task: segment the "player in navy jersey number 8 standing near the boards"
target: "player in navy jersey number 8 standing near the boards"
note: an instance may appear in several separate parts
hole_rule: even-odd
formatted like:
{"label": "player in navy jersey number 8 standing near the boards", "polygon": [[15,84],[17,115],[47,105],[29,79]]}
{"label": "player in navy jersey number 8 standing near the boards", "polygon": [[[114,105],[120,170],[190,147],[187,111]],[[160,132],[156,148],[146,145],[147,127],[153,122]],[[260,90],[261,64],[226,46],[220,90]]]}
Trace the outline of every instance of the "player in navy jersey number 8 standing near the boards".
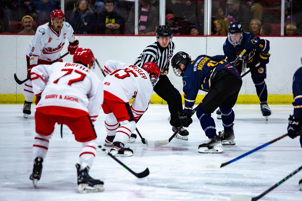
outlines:
{"label": "player in navy jersey number 8 standing near the boards", "polygon": [[260,65],[251,71],[251,75],[260,100],[262,115],[267,120],[268,116],[272,114],[271,109],[267,105],[268,93],[264,80],[266,78],[266,64],[268,64],[270,57],[268,53],[269,41],[260,39],[252,33],[243,32],[239,22],[232,22],[229,27],[228,38],[223,44],[223,52],[227,56],[227,61],[231,63],[235,61],[243,49],[246,49],[246,53],[235,67],[241,74],[246,68],[255,67],[260,62]]}

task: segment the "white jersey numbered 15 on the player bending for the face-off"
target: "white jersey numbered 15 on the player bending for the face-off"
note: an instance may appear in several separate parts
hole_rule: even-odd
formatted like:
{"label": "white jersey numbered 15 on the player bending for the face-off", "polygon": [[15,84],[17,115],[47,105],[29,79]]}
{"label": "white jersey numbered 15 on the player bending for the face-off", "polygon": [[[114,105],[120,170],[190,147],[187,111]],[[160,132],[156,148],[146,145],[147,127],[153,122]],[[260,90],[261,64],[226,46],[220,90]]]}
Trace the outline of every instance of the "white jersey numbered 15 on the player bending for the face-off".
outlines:
{"label": "white jersey numbered 15 on the player bending for the face-off", "polygon": [[133,115],[135,118],[142,115],[148,108],[153,92],[149,74],[136,65],[113,60],[106,61],[104,68],[107,75],[103,80],[104,91],[124,102],[135,98],[131,105]]}

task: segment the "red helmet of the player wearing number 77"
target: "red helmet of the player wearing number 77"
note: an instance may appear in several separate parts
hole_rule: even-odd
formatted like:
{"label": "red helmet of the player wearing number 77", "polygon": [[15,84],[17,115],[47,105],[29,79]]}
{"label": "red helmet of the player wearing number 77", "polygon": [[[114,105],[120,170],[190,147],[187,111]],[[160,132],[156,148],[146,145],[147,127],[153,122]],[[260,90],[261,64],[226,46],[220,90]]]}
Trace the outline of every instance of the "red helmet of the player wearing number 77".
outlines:
{"label": "red helmet of the player wearing number 77", "polygon": [[91,70],[95,69],[95,57],[88,48],[78,48],[73,55],[73,63],[83,64]]}

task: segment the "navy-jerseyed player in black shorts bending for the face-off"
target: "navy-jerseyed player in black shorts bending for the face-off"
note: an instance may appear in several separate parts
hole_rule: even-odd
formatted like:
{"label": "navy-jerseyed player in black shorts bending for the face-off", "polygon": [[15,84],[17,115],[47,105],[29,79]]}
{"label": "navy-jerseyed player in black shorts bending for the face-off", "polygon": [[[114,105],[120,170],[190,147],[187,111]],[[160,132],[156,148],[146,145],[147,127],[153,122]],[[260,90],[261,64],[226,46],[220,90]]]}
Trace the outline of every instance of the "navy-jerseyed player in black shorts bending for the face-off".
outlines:
{"label": "navy-jerseyed player in black shorts bending for the face-off", "polygon": [[[223,58],[225,56],[223,55]],[[233,121],[235,118],[233,106],[236,103],[242,80],[239,72],[221,55],[210,57],[200,55],[191,61],[185,52],[176,53],[171,65],[174,73],[182,77],[185,108],[178,111],[179,119],[184,127],[192,123],[192,108],[198,90],[208,92],[198,105],[196,115],[200,121],[208,141],[199,145],[200,153],[221,153],[222,145],[234,145]],[[211,113],[219,107],[224,130],[216,134],[215,122]]]}

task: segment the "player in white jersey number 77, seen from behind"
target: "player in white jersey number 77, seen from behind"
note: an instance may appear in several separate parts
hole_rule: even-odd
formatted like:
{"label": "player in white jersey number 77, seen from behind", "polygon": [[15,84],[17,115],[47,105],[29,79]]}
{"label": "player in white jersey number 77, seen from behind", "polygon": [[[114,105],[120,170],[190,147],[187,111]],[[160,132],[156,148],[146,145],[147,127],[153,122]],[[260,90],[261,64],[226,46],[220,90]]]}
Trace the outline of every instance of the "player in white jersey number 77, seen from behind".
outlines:
{"label": "player in white jersey number 77, seen from behind", "polygon": [[[93,179],[88,171],[98,146],[93,127],[103,102],[101,80],[92,71],[94,55],[90,49],[79,48],[73,63],[40,64],[31,69],[33,91],[36,94],[36,136],[34,138],[34,168],[30,179],[37,186],[42,173],[55,123],[67,125],[76,141],[82,143],[78,173],[80,193],[104,190],[103,181]],[[89,187],[88,187],[89,186]]]}

